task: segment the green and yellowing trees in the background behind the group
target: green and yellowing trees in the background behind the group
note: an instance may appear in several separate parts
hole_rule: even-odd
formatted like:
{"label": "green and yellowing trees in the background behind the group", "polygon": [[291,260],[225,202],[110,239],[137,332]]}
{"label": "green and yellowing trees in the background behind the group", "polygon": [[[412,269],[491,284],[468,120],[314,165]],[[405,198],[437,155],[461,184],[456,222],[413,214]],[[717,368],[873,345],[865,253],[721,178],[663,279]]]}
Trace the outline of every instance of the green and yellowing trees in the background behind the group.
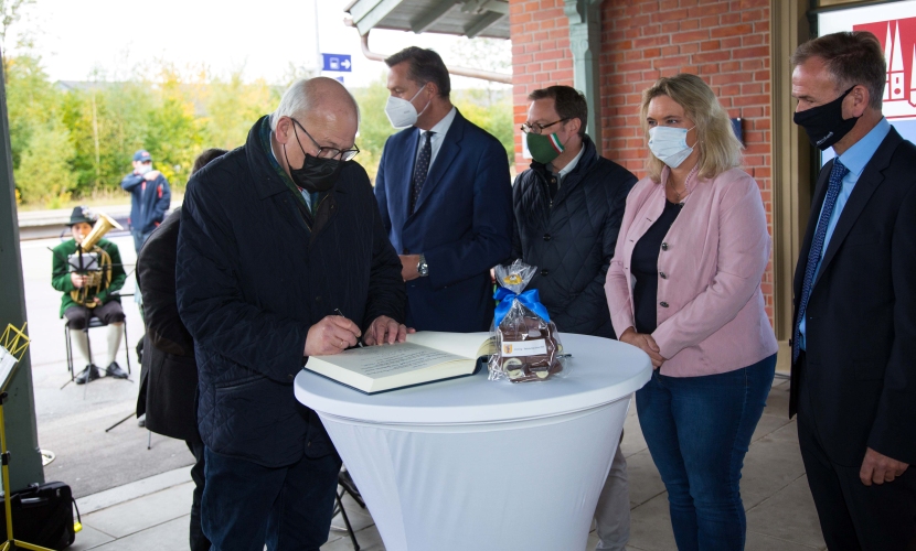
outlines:
{"label": "green and yellowing trees in the background behind the group", "polygon": [[[0,0],[0,18],[9,13],[4,6],[19,9],[24,3]],[[4,24],[6,19],[0,21],[0,41]],[[493,52],[505,47],[504,41],[476,39],[452,55],[498,71],[509,56]],[[205,69],[182,72],[159,62],[134,67],[119,80],[96,72],[88,82],[51,83],[41,58],[30,52],[21,48],[4,60],[4,68],[17,191],[22,203],[36,207],[64,207],[71,198],[123,197],[119,183],[138,149],[149,150],[156,168],[180,195],[202,149],[244,144],[254,121],[273,111],[288,85],[310,76],[290,66],[286,83],[269,85],[263,79],[247,82],[244,67],[223,76]],[[352,90],[362,116],[356,138],[362,153],[356,161],[373,181],[385,141],[396,131],[385,116],[385,80],[381,74],[370,86]],[[452,101],[500,140],[511,165],[511,90],[479,83],[486,88],[452,90]]]}

